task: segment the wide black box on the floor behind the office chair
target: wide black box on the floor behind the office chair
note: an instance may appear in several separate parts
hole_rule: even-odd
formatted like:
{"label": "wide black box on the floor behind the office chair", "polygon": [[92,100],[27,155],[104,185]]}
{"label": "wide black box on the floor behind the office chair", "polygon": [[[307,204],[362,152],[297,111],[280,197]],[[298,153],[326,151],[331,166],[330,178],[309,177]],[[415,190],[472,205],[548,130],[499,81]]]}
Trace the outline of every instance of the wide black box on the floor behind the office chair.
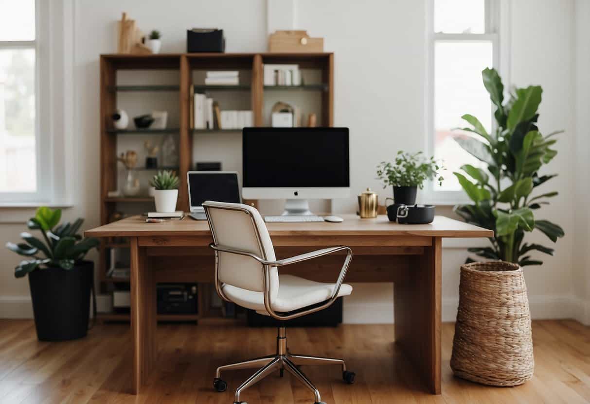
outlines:
{"label": "wide black box on the floor behind the office chair", "polygon": [[336,299],[336,302],[327,309],[287,321],[278,321],[273,317],[258,314],[254,310],[247,310],[247,312],[250,327],[336,327],[342,323],[342,297]]}

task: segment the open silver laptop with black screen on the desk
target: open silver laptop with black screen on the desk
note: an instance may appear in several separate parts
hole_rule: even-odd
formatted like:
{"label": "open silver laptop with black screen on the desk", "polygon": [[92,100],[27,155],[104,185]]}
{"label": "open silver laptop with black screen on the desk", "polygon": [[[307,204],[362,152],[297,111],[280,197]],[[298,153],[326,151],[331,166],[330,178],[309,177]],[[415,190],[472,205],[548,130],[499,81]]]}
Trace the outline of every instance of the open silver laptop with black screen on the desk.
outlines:
{"label": "open silver laptop with black screen on the desk", "polygon": [[195,220],[207,220],[203,202],[242,203],[240,177],[237,171],[188,171],[188,201]]}

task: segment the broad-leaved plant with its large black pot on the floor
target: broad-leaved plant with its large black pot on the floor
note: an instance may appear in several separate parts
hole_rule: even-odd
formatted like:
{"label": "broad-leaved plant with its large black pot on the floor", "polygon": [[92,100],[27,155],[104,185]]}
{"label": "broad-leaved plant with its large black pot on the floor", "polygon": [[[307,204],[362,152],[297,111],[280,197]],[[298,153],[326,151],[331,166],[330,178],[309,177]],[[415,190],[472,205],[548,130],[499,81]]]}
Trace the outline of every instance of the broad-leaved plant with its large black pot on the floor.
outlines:
{"label": "broad-leaved plant with its large black pot on the floor", "polygon": [[9,250],[27,257],[15,267],[14,276],[29,276],[35,328],[41,341],[81,338],[89,324],[94,263],[84,257],[99,240],[82,239],[78,234],[83,219],[59,224],[60,219],[60,209],[40,207],[27,227],[40,231],[43,240],[24,232],[24,242],[6,243]]}

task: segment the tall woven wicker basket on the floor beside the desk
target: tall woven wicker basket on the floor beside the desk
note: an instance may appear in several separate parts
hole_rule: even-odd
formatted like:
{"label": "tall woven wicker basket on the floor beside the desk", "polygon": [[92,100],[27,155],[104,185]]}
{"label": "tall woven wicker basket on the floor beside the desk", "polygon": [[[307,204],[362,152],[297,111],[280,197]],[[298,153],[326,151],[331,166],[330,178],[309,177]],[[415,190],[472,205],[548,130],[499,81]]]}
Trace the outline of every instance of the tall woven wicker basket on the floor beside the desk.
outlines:
{"label": "tall woven wicker basket on the floor beside the desk", "polygon": [[533,376],[533,339],[525,277],[503,261],[461,266],[451,369],[491,386],[517,386]]}

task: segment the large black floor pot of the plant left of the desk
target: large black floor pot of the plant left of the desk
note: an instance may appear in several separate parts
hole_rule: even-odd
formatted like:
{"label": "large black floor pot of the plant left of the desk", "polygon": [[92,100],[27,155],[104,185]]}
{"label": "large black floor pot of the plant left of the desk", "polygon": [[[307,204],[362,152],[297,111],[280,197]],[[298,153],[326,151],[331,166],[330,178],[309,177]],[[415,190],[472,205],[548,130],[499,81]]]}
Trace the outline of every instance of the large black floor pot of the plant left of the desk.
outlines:
{"label": "large black floor pot of the plant left of the desk", "polygon": [[29,273],[35,328],[40,341],[65,341],[86,336],[94,263],[73,269],[41,269]]}

